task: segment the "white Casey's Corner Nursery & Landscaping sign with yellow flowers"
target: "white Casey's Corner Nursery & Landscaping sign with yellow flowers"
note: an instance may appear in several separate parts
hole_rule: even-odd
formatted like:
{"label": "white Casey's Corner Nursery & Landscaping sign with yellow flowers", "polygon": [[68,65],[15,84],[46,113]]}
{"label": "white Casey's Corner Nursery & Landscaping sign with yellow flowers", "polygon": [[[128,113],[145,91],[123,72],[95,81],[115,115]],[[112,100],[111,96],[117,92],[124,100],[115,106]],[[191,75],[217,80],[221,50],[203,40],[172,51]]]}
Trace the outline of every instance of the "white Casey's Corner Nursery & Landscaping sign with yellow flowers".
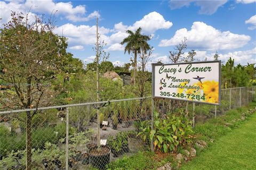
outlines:
{"label": "white Casey's Corner Nursery & Landscaping sign with yellow flowers", "polygon": [[152,64],[153,97],[220,105],[220,61]]}

